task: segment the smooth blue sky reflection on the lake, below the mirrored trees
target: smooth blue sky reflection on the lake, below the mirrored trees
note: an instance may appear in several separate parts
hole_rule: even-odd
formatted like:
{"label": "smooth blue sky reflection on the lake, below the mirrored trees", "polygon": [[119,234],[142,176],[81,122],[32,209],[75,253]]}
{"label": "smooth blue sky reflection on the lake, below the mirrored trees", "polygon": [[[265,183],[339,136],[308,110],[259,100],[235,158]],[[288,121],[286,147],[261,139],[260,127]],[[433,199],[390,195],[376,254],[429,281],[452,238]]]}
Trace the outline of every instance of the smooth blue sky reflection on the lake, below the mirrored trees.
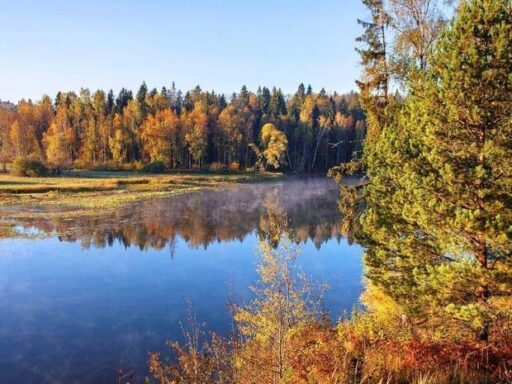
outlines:
{"label": "smooth blue sky reflection on the lake, below the mirrored trees", "polygon": [[[304,272],[332,288],[326,306],[350,310],[360,248],[337,240],[301,247]],[[199,321],[225,332],[228,299],[247,299],[256,279],[256,248],[255,234],[207,249],[179,239],[173,257],[169,248],[0,241],[0,382],[111,383],[120,363],[144,371],[148,351],[181,337],[187,298]]]}

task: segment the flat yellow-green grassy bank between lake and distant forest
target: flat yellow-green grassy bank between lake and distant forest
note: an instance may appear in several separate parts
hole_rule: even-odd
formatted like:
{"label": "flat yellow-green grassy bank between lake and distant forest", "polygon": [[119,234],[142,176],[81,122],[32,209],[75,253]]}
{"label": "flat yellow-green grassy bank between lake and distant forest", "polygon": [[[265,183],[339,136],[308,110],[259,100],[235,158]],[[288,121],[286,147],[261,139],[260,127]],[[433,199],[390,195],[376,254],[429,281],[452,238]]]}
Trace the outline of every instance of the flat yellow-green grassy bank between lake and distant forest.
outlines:
{"label": "flat yellow-green grassy bank between lake and distant forest", "polygon": [[0,217],[4,220],[104,215],[151,197],[272,180],[281,174],[143,174],[71,171],[58,177],[0,174]]}

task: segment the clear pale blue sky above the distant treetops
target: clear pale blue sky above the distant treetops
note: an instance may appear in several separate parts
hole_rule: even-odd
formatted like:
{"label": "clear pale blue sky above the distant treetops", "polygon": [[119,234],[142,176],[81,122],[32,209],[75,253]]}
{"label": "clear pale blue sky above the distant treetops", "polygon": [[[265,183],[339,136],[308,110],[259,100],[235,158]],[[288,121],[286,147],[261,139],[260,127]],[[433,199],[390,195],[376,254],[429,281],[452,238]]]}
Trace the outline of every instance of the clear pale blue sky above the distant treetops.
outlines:
{"label": "clear pale blue sky above the distant treetops", "polygon": [[0,99],[121,87],[349,91],[360,0],[0,0]]}

